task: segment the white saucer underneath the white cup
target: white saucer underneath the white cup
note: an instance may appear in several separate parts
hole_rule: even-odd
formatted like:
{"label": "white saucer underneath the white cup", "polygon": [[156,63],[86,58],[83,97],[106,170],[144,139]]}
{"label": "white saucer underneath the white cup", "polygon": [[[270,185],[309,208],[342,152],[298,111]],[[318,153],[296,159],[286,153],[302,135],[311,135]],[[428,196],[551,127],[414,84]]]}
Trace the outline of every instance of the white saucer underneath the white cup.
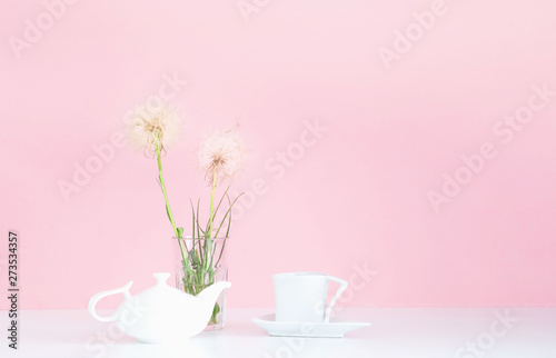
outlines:
{"label": "white saucer underneath the white cup", "polygon": [[357,328],[368,327],[367,322],[344,322],[334,318],[325,322],[277,322],[275,315],[254,318],[254,322],[262,327],[269,336],[278,337],[320,337],[341,338],[344,334]]}

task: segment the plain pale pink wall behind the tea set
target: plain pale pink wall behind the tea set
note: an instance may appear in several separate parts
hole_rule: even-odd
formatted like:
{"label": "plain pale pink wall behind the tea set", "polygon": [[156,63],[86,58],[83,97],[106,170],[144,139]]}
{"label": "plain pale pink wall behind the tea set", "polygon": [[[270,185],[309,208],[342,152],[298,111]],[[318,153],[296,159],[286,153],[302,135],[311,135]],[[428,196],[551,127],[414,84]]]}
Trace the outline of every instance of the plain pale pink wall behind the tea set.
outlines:
{"label": "plain pale pink wall behind the tea set", "polygon": [[230,306],[271,307],[292,270],[350,279],[344,306],[556,305],[556,2],[73,2],[0,6],[1,282],[16,229],[23,308],[171,269],[153,160],[123,146],[69,200],[58,187],[165,73],[188,82],[165,158],[186,230],[210,127],[250,148],[236,191],[265,183],[232,227]]}

